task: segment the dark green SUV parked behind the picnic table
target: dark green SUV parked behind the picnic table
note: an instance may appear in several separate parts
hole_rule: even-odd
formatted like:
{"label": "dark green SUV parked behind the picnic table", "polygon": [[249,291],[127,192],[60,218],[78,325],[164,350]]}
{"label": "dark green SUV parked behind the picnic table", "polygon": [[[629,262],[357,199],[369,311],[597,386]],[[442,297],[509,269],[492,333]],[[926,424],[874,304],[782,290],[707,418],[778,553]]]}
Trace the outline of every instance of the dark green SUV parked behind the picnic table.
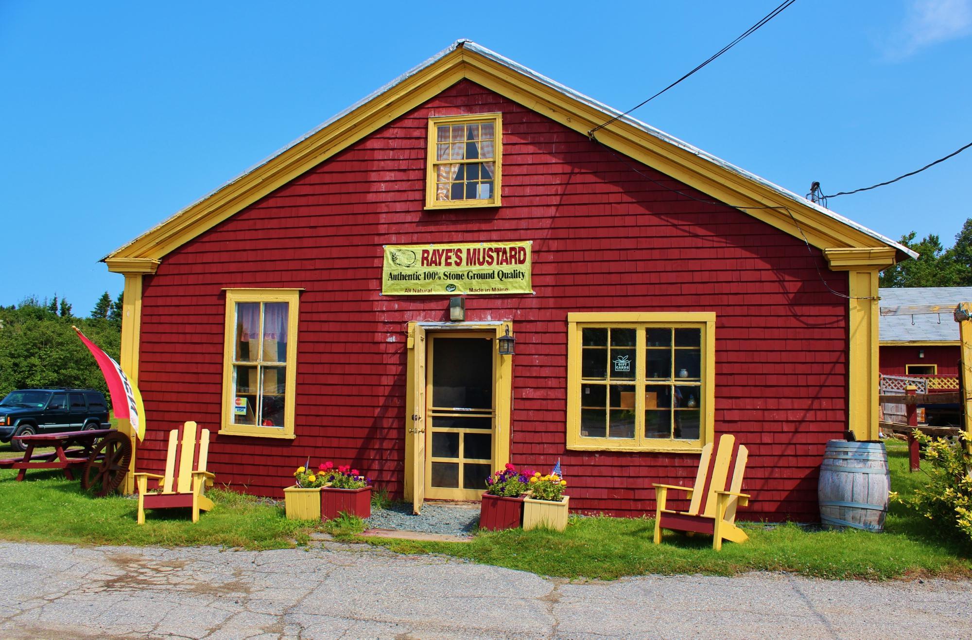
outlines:
{"label": "dark green SUV parked behind the picnic table", "polygon": [[[108,403],[95,389],[18,389],[0,401],[0,443],[14,436],[111,429]],[[18,451],[27,448],[13,441]]]}

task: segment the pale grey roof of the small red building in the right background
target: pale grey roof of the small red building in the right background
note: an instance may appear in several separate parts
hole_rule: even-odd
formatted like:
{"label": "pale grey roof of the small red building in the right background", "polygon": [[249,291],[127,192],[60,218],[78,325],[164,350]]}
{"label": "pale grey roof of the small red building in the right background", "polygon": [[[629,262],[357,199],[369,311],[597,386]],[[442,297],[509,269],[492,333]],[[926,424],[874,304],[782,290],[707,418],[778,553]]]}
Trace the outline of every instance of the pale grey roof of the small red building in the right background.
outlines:
{"label": "pale grey roof of the small red building in the right background", "polygon": [[[942,304],[955,306],[958,302],[972,302],[972,287],[912,287],[908,289],[881,288],[881,306],[910,306]],[[951,312],[916,315],[881,316],[879,339],[886,341],[919,340],[927,342],[958,342],[958,323]]]}

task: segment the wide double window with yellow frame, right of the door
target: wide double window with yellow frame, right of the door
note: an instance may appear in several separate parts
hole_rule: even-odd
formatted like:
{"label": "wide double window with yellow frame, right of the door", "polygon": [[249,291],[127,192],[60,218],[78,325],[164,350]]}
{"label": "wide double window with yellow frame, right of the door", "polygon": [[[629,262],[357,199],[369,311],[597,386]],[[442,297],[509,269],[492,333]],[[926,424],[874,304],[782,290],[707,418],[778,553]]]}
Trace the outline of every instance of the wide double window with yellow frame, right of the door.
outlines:
{"label": "wide double window with yellow frame, right of the door", "polygon": [[569,449],[712,442],[715,314],[568,314]]}

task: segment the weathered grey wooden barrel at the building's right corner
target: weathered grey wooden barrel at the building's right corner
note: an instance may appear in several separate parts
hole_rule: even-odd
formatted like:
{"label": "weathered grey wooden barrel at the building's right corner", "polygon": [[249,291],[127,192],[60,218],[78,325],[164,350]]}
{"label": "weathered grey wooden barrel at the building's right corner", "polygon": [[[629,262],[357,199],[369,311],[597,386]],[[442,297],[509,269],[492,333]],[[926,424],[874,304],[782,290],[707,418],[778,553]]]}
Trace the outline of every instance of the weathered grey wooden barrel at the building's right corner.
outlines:
{"label": "weathered grey wooden barrel at the building's right corner", "polygon": [[827,442],[816,486],[820,522],[882,531],[890,480],[884,443]]}

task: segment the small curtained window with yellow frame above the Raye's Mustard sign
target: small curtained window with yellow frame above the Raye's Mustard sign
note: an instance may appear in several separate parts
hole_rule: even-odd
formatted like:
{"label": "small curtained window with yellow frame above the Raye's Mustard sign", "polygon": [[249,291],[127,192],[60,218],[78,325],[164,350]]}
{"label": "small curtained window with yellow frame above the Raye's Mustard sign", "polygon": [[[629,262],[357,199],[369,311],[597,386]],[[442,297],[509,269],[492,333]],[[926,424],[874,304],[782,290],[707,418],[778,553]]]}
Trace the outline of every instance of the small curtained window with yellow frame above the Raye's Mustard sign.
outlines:
{"label": "small curtained window with yellow frame above the Raye's Mustard sign", "polygon": [[500,205],[503,117],[429,119],[426,207]]}

